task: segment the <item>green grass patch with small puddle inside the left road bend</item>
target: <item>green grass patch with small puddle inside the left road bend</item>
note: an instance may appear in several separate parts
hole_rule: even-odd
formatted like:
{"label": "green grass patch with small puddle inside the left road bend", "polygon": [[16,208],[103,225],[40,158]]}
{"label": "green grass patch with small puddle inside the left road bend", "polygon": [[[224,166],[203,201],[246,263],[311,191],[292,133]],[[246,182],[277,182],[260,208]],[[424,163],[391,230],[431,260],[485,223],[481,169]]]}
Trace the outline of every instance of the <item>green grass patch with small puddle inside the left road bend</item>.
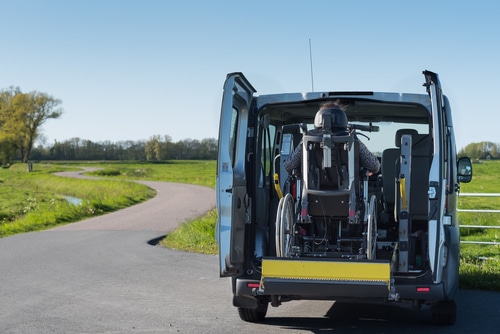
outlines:
{"label": "green grass patch with small puddle inside the left road bend", "polygon": [[[35,164],[28,173],[23,164],[0,170],[0,237],[39,231],[119,210],[152,198],[155,191],[135,182],[63,178],[67,170]],[[68,202],[65,196],[81,200]]]}

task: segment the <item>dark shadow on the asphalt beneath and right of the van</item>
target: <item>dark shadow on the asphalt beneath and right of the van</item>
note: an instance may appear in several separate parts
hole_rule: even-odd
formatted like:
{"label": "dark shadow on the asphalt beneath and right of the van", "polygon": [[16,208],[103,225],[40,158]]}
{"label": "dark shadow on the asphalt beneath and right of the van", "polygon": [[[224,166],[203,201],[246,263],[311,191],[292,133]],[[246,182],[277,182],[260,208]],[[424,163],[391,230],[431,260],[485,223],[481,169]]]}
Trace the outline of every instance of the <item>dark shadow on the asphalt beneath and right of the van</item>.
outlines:
{"label": "dark shadow on the asphalt beneath and right of the van", "polygon": [[[498,333],[500,294],[460,290],[457,322],[453,326],[432,324],[428,306],[420,310],[409,304],[334,302],[322,317],[268,317],[262,323],[275,329],[300,333]],[[307,311],[304,310],[306,313]]]}

